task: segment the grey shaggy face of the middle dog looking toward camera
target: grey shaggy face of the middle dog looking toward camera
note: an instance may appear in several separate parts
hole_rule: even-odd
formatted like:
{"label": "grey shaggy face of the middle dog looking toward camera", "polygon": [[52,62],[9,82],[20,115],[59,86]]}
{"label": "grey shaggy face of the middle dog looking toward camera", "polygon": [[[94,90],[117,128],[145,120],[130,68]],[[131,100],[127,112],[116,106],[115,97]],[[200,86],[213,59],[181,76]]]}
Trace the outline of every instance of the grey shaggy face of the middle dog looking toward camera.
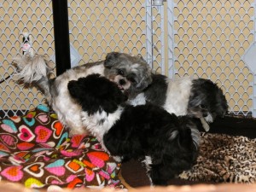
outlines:
{"label": "grey shaggy face of the middle dog looking toward camera", "polygon": [[118,84],[120,90],[129,98],[151,84],[151,69],[141,56],[125,53],[109,53],[104,61],[105,77]]}

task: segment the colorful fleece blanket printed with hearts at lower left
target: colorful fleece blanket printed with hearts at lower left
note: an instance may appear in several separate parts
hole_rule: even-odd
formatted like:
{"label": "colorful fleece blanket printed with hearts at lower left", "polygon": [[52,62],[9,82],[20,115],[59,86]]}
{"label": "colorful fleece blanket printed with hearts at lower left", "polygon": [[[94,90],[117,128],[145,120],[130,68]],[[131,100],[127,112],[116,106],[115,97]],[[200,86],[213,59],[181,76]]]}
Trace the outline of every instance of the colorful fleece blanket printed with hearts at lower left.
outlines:
{"label": "colorful fleece blanket printed with hearts at lower left", "polygon": [[54,112],[38,108],[24,116],[0,119],[0,180],[27,188],[123,189],[120,164],[96,138],[68,136]]}

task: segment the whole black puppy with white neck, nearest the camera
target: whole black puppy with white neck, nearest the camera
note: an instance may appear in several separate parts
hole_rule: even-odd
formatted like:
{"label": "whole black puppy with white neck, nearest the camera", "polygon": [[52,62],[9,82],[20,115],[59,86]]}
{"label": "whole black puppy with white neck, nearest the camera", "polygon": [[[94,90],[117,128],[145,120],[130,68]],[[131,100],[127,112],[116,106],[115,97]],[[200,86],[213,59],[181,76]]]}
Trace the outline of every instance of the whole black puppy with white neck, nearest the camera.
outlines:
{"label": "whole black puppy with white neck, nearest the camera", "polygon": [[70,95],[82,107],[84,125],[113,156],[145,156],[154,185],[193,166],[200,133],[187,116],[177,117],[152,104],[133,107],[118,86],[99,74],[70,81]]}

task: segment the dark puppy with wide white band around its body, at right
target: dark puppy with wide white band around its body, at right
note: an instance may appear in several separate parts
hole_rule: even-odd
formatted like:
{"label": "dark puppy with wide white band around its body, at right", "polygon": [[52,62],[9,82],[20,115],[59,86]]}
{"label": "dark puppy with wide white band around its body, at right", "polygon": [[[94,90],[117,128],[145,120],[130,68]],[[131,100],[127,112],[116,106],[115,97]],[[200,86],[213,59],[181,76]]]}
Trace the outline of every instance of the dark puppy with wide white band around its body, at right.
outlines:
{"label": "dark puppy with wide white band around its body, at right", "polygon": [[206,131],[207,124],[217,117],[224,117],[228,110],[223,91],[210,79],[168,79],[165,75],[151,75],[153,81],[130,101],[132,105],[151,102],[161,106],[169,113],[189,115],[201,119]]}

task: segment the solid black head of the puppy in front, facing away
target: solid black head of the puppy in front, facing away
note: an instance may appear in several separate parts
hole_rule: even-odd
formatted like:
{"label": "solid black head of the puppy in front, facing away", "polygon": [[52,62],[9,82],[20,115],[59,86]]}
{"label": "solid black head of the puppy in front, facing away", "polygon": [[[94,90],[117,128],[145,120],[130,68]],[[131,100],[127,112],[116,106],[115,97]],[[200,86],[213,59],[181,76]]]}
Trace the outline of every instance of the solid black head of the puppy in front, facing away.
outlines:
{"label": "solid black head of the puppy in front, facing away", "polygon": [[70,81],[67,84],[70,96],[82,106],[84,111],[96,113],[103,109],[113,113],[127,97],[118,86],[99,74]]}

